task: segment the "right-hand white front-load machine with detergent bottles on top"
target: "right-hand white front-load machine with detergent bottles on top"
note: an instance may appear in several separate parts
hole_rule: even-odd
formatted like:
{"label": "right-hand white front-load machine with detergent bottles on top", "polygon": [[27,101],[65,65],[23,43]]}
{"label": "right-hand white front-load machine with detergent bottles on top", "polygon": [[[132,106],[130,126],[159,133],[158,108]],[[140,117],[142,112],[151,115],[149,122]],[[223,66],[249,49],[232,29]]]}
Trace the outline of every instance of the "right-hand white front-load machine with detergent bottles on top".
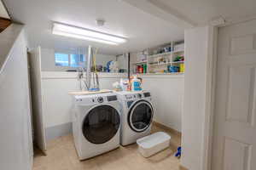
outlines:
{"label": "right-hand white front-load machine with detergent bottles on top", "polygon": [[147,91],[117,94],[122,105],[120,144],[132,144],[150,133],[154,117],[151,94]]}

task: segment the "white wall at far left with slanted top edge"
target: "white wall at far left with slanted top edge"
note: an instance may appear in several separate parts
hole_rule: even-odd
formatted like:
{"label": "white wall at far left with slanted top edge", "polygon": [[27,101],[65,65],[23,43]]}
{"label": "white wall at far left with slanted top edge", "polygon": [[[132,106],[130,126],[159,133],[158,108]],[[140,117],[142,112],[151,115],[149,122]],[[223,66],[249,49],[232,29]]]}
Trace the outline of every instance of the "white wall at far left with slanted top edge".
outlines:
{"label": "white wall at far left with slanted top edge", "polygon": [[[4,41],[0,49],[6,48],[5,43],[12,42],[20,30],[20,26],[12,25],[0,33],[0,42]],[[3,38],[3,34],[8,35]],[[32,169],[32,129],[26,39],[23,31],[15,38],[0,70],[0,169],[29,170]]]}

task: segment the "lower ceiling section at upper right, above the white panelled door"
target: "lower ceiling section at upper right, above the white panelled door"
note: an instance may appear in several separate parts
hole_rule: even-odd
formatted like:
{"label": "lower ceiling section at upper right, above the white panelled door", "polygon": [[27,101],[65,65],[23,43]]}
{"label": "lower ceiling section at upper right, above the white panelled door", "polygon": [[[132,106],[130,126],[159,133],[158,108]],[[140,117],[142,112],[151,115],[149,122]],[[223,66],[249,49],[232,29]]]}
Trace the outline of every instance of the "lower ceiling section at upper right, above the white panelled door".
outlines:
{"label": "lower ceiling section at upper right, above the white panelled door", "polygon": [[198,25],[222,16],[227,22],[256,18],[256,0],[148,0]]}

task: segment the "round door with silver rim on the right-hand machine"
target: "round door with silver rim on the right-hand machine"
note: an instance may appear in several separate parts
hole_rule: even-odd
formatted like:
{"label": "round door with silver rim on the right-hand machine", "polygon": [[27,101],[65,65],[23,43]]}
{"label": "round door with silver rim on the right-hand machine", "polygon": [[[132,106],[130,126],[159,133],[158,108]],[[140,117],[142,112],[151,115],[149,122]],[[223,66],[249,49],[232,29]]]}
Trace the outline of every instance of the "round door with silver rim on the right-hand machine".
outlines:
{"label": "round door with silver rim on the right-hand machine", "polygon": [[137,133],[142,133],[150,126],[154,116],[152,105],[146,100],[139,100],[131,106],[128,124]]}

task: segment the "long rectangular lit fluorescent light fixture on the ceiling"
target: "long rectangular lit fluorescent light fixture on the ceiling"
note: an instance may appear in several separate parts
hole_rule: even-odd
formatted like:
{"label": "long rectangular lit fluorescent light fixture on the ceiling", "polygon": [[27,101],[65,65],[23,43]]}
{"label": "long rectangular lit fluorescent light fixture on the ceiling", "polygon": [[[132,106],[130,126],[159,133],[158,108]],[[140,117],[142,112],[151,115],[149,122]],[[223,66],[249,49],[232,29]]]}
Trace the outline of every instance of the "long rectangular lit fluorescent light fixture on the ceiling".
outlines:
{"label": "long rectangular lit fluorescent light fixture on the ceiling", "polygon": [[119,45],[126,42],[124,37],[118,37],[107,33],[93,31],[86,28],[79,28],[76,26],[68,26],[61,23],[54,23],[52,33],[55,35],[74,37],[93,42],[107,43],[110,45]]}

